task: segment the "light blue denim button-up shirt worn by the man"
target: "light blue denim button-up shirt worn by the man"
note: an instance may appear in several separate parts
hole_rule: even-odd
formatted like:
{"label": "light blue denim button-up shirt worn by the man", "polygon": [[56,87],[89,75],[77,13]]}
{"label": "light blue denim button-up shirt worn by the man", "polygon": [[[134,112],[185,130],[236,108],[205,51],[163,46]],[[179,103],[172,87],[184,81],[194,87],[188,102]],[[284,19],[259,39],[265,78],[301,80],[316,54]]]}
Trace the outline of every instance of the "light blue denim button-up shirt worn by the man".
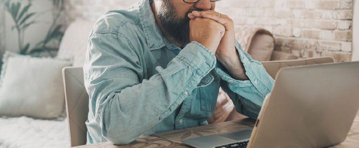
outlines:
{"label": "light blue denim button-up shirt worn by the man", "polygon": [[161,34],[148,0],[105,13],[84,65],[87,144],[128,144],[139,136],[206,125],[219,87],[237,112],[256,119],[273,78],[235,43],[250,80],[235,80],[197,42],[183,49]]}

